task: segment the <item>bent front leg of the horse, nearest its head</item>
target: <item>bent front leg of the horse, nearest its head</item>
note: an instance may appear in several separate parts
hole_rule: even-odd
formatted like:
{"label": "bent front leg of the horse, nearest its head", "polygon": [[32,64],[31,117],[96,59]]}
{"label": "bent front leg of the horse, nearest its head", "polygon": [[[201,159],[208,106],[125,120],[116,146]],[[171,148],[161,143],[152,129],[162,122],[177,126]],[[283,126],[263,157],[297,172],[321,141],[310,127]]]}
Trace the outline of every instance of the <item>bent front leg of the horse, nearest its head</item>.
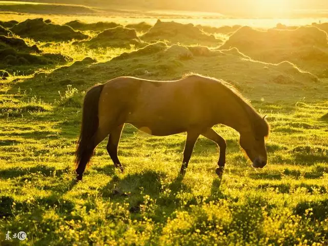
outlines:
{"label": "bent front leg of the horse, nearest its head", "polygon": [[216,169],[216,174],[221,176],[223,173],[224,165],[226,164],[226,140],[224,140],[224,138],[217,134],[212,128],[208,129],[201,135],[215,142],[220,148],[220,155],[217,163],[219,167]]}

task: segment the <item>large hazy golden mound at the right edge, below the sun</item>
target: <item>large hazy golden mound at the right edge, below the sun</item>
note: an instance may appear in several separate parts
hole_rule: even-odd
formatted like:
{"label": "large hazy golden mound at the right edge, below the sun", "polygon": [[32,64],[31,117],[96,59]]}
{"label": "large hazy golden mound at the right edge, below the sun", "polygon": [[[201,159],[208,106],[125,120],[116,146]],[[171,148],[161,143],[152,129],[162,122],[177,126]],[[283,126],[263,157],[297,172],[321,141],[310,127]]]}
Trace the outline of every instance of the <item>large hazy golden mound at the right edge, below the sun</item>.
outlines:
{"label": "large hazy golden mound at the right edge, below the sun", "polygon": [[316,27],[295,30],[269,29],[259,31],[242,27],[233,33],[220,48],[236,47],[245,55],[268,63],[284,60],[295,63],[303,70],[322,75],[328,62],[327,34]]}

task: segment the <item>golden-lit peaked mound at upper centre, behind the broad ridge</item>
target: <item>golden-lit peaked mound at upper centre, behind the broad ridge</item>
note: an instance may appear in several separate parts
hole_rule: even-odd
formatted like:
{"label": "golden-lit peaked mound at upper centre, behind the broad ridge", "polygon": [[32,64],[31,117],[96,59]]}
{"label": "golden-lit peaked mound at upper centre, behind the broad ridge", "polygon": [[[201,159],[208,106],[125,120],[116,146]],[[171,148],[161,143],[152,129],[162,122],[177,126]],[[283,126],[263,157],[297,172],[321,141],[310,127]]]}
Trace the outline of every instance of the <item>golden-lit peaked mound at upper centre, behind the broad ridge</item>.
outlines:
{"label": "golden-lit peaked mound at upper centre, behind the broad ridge", "polygon": [[176,22],[161,22],[149,29],[140,37],[142,40],[168,40],[172,44],[218,46],[222,42],[213,35],[208,35],[193,24],[180,24]]}

